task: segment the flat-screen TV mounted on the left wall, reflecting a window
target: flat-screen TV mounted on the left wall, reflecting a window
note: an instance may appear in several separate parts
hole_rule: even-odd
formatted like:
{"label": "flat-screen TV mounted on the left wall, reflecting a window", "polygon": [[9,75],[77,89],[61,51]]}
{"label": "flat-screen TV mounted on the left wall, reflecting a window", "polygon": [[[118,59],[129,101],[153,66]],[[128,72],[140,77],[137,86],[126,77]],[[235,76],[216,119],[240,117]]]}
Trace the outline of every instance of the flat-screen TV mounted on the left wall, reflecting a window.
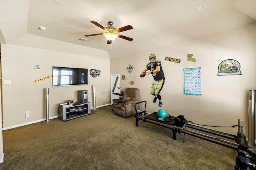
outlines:
{"label": "flat-screen TV mounted on the left wall, reflecting a window", "polygon": [[75,86],[88,84],[87,68],[52,67],[53,86]]}

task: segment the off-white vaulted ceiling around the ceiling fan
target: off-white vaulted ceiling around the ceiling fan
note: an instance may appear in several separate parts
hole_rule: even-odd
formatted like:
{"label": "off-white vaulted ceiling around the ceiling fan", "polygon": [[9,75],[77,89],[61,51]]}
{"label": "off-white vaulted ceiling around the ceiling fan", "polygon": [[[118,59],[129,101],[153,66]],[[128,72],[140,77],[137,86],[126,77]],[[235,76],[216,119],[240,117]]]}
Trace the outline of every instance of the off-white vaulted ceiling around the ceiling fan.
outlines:
{"label": "off-white vaulted ceiling around the ceiling fan", "polygon": [[[115,58],[256,23],[256,0],[60,1],[0,0],[0,43],[31,34],[106,50]],[[108,21],[116,28],[132,25],[120,34],[134,40],[117,38],[108,45],[103,35],[85,37],[104,33],[90,21],[104,27]]]}

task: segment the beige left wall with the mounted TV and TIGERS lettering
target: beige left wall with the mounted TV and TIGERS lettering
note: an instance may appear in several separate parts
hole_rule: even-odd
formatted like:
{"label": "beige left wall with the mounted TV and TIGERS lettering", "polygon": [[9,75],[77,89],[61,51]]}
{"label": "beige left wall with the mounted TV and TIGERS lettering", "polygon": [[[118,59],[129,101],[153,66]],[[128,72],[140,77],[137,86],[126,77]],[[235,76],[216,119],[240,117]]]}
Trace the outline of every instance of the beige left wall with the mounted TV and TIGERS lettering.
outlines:
{"label": "beige left wall with the mounted TV and TIGERS lettering", "polygon": [[[84,49],[90,53],[90,48]],[[92,85],[96,88],[96,106],[110,104],[110,59],[100,58],[102,51],[98,54],[97,50],[92,51],[99,57],[1,44],[2,80],[11,80],[11,84],[2,84],[3,128],[45,119],[46,88],[49,88],[49,117],[58,116],[58,104],[72,99],[77,102],[78,90],[89,91],[89,102],[93,108]],[[35,69],[36,65],[39,65],[40,69]],[[53,87],[52,78],[33,82],[51,75],[52,66],[88,68],[88,85]],[[89,70],[93,68],[101,71],[98,78],[90,76]],[[28,118],[25,118],[25,111],[29,111]]]}

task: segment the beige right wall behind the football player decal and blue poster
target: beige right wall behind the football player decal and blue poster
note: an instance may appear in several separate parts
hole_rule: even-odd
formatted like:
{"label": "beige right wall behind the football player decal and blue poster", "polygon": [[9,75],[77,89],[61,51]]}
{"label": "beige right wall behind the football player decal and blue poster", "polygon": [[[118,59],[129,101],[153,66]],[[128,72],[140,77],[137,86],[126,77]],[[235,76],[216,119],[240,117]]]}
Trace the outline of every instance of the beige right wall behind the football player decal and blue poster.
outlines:
{"label": "beige right wall behind the football player decal and blue poster", "polygon": [[[185,41],[134,56],[111,59],[111,74],[124,74],[126,81],[120,85],[140,89],[140,101],[146,100],[149,113],[164,109],[170,115],[184,115],[194,123],[202,125],[232,126],[238,119],[244,121],[244,132],[247,133],[248,90],[256,89],[256,35],[255,25],[218,33],[197,40]],[[154,41],[152,41],[154,43]],[[158,102],[153,104],[150,94],[152,75],[140,78],[140,73],[149,63],[148,56],[155,53],[162,63],[166,82],[160,93],[163,107]],[[193,54],[196,63],[187,61],[187,54]],[[181,63],[164,61],[165,57],[181,59]],[[218,65],[234,59],[241,65],[242,75],[217,76]],[[133,66],[131,73],[126,68]],[[183,68],[201,67],[202,96],[183,94]],[[129,82],[134,81],[134,85]],[[142,108],[141,108],[142,109]],[[238,128],[212,128],[236,134]]]}

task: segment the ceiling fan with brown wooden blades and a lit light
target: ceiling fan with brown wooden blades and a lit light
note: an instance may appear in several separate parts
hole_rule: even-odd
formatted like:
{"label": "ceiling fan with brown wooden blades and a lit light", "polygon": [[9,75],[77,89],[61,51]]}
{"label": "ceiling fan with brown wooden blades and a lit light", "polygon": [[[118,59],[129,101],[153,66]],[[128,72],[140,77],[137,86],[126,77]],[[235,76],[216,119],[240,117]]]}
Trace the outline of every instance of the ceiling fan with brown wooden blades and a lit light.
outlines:
{"label": "ceiling fan with brown wooden blades and a lit light", "polygon": [[126,39],[128,41],[133,40],[132,38],[129,38],[129,37],[126,37],[124,35],[119,34],[122,31],[127,31],[129,29],[133,29],[131,25],[127,25],[125,27],[121,27],[121,28],[116,29],[116,27],[112,26],[114,24],[113,21],[108,21],[109,26],[107,26],[106,28],[103,27],[102,25],[100,25],[98,22],[91,21],[91,23],[93,23],[93,24],[97,25],[98,27],[100,27],[101,29],[103,29],[105,31],[105,33],[84,35],[86,37],[90,37],[90,36],[94,36],[94,35],[104,35],[108,39],[107,44],[111,44],[111,42],[114,41],[117,37],[122,38],[122,39]]}

